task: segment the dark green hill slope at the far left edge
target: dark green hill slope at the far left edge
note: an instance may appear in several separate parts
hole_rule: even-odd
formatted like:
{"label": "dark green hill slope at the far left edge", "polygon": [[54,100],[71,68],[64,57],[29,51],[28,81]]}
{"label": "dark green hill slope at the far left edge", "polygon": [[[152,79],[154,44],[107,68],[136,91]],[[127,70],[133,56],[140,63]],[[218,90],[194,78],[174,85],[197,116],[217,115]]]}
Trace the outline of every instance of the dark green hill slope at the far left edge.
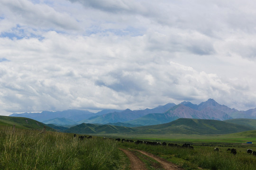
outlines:
{"label": "dark green hill slope at the far left edge", "polygon": [[[0,127],[12,127],[15,125],[15,128],[24,128],[24,129],[38,129],[41,130],[46,126],[45,124],[22,117],[10,117],[10,116],[0,116]],[[55,131],[55,129],[46,126],[46,130]]]}

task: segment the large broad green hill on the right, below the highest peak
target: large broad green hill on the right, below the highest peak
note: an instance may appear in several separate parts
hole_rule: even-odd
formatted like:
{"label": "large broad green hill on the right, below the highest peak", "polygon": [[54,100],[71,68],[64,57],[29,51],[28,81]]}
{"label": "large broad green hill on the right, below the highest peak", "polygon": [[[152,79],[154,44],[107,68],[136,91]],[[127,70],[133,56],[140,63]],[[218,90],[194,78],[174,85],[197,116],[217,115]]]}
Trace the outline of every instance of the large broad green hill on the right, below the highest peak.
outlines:
{"label": "large broad green hill on the right, below the highest peak", "polygon": [[133,134],[229,134],[253,130],[252,127],[236,125],[219,120],[210,119],[177,119],[170,123],[136,127]]}

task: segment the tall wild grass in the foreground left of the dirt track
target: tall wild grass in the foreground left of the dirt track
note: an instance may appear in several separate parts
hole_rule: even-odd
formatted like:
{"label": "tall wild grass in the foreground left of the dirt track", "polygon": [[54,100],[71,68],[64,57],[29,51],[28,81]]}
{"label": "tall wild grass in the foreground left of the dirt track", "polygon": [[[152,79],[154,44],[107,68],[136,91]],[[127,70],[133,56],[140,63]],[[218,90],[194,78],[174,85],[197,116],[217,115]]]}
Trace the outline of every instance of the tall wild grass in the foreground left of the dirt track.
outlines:
{"label": "tall wild grass in the foreground left of the dirt track", "polygon": [[119,170],[117,143],[73,134],[0,129],[0,170]]}

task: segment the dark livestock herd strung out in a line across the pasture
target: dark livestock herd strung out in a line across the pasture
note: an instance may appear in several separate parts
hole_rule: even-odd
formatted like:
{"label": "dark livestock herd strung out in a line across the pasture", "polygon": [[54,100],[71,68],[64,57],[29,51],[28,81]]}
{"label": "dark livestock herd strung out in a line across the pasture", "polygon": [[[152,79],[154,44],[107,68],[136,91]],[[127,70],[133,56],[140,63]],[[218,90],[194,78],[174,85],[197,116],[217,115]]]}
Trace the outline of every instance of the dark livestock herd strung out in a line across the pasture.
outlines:
{"label": "dark livestock herd strung out in a line across the pasture", "polygon": [[[76,134],[73,135],[74,137],[76,137]],[[83,140],[84,138],[87,138],[87,139],[90,139],[92,138],[92,136],[79,136],[78,137],[80,140]],[[103,139],[107,139],[106,137],[103,137]],[[148,145],[162,145],[162,146],[172,146],[172,147],[182,147],[182,148],[190,148],[190,149],[194,149],[193,146],[191,144],[183,144],[183,145],[178,145],[178,144],[166,144],[166,142],[150,142],[150,141],[140,141],[140,140],[137,140],[137,141],[133,141],[133,140],[129,140],[129,139],[120,139],[120,138],[116,138],[116,139],[113,139],[113,138],[109,138],[109,139],[112,139],[112,140],[116,140],[116,141],[121,141],[121,142],[131,142],[131,143],[134,143],[134,144],[148,144]],[[215,147],[214,148],[214,151],[217,151],[219,152],[219,148],[218,147]],[[230,153],[236,155],[237,154],[237,150],[232,148],[228,148],[227,151],[230,151]],[[256,151],[253,151],[252,149],[247,149],[247,153],[249,154],[252,154],[254,156],[256,156]]]}

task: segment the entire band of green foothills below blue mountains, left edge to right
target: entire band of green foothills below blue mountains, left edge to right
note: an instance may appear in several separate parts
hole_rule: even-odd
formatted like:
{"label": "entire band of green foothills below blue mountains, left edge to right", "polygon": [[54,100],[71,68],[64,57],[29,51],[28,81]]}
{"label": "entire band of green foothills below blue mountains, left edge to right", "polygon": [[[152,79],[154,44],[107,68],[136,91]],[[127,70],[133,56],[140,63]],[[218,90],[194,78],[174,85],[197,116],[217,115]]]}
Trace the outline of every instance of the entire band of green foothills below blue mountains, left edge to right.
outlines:
{"label": "entire band of green foothills below blue mountains, left edge to right", "polygon": [[[122,123],[121,123],[122,124]],[[65,133],[76,133],[86,135],[165,135],[170,134],[187,134],[187,135],[219,135],[238,133],[239,136],[256,136],[256,119],[229,119],[225,121],[210,119],[188,119],[180,118],[169,123],[142,126],[142,127],[123,127],[113,125],[95,125],[82,123],[70,128],[55,126],[52,124],[43,124],[37,120],[19,117],[0,116],[0,126],[13,127],[23,129],[42,130],[46,126],[46,130],[59,131]],[[129,125],[129,124],[126,124]],[[39,131],[38,131],[39,132]]]}

